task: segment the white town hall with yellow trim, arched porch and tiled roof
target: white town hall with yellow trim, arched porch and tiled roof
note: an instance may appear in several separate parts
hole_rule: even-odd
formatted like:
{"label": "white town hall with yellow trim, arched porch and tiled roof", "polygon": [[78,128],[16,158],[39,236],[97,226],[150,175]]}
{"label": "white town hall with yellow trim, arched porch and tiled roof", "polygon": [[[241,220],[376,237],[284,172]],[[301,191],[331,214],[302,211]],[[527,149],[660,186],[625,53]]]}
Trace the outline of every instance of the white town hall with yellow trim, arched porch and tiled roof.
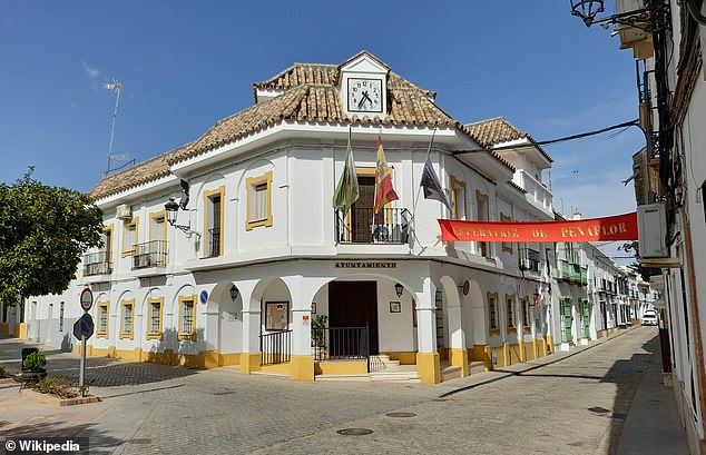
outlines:
{"label": "white town hall with yellow trim, arched porch and tiled roof", "polygon": [[[78,348],[71,323],[89,286],[89,355],[300,380],[390,358],[438,383],[555,348],[553,247],[442,243],[437,221],[552,220],[551,158],[531,137],[502,118],[459,122],[364,51],[295,63],[254,95],[193,142],[97,185],[105,245],[65,295],[26,303],[30,339]],[[360,197],[336,210],[349,135]],[[399,199],[373,215],[379,136]],[[517,147],[492,151],[503,145]],[[428,156],[450,209],[421,192]]]}

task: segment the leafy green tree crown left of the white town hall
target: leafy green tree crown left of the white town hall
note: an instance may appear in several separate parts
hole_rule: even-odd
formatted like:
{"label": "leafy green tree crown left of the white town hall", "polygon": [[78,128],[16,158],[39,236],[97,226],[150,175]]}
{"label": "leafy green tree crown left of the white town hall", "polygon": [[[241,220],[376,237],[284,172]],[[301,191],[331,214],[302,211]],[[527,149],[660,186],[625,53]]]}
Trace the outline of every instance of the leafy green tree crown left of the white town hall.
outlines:
{"label": "leafy green tree crown left of the white town hall", "polygon": [[0,300],[60,294],[86,249],[101,243],[102,211],[88,195],[31,178],[0,184]]}

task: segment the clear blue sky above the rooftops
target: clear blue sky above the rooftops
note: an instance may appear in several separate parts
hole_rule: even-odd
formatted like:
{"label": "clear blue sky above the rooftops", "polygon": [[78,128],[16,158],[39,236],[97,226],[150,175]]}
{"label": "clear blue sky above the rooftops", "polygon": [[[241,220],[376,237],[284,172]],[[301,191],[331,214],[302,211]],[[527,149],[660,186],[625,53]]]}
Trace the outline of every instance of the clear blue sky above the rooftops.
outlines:
{"label": "clear blue sky above the rooftops", "polygon": [[[607,4],[611,10],[612,4]],[[438,92],[462,122],[506,117],[538,140],[637,117],[635,62],[569,1],[2,1],[0,181],[27,166],[89,191],[114,154],[138,162],[253,103],[252,83],[293,62],[367,50]],[[555,206],[585,217],[635,209],[638,129],[547,147]]]}

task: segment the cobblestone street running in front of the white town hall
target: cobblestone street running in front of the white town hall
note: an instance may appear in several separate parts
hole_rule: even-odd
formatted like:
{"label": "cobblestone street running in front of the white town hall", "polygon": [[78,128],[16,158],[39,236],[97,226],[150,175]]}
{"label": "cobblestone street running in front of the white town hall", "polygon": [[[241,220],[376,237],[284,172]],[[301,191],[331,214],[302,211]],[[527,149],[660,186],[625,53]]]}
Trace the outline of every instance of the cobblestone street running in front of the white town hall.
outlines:
{"label": "cobblestone street running in front of the white town hall", "polygon": [[[0,365],[19,368],[20,344],[0,346]],[[77,360],[50,353],[48,367],[69,373]],[[58,409],[10,400],[0,435],[88,436],[91,454],[609,454],[640,380],[659,374],[659,362],[657,333],[646,327],[433,386],[300,383],[90,358],[87,377],[102,403]],[[337,433],[345,429],[371,433]]]}

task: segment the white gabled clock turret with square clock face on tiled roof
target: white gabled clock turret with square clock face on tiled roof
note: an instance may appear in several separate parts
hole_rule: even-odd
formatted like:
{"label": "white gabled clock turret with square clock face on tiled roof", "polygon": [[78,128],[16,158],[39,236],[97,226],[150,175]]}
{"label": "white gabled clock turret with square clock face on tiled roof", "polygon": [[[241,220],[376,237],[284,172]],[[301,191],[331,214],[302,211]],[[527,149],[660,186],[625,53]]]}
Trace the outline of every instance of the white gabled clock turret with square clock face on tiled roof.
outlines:
{"label": "white gabled clock turret with square clock face on tiled roof", "polygon": [[388,75],[390,68],[366,51],[344,61],[340,67],[341,102],[349,117],[388,115]]}

